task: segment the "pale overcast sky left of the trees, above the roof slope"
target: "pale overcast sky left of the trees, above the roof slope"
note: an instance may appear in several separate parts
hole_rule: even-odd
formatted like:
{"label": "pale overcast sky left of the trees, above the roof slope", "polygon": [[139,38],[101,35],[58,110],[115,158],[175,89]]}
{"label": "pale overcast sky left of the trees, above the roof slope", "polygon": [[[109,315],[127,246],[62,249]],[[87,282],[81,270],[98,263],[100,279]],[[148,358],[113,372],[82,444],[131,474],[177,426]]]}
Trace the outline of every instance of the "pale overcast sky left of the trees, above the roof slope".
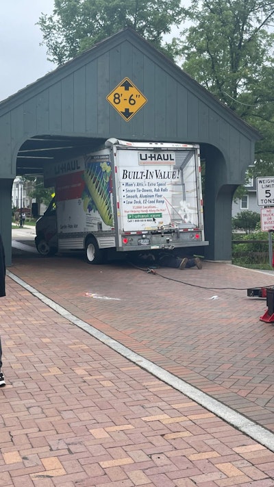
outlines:
{"label": "pale overcast sky left of the trees, above the roof slope", "polygon": [[36,25],[53,5],[54,0],[0,0],[0,101],[57,67],[47,61]]}

